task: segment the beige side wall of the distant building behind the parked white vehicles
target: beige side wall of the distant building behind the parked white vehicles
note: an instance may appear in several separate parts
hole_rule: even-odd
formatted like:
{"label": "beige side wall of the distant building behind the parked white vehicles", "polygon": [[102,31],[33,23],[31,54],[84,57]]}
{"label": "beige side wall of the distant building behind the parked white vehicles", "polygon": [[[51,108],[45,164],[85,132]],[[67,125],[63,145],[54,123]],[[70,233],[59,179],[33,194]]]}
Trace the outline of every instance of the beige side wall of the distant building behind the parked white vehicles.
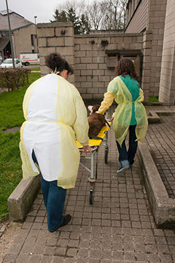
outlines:
{"label": "beige side wall of the distant building behind the parked white vehicles", "polygon": [[[20,53],[31,53],[31,34],[36,34],[36,26],[27,25],[14,31],[16,58],[20,58]],[[36,43],[34,45],[36,47]],[[37,50],[35,50],[37,52]]]}

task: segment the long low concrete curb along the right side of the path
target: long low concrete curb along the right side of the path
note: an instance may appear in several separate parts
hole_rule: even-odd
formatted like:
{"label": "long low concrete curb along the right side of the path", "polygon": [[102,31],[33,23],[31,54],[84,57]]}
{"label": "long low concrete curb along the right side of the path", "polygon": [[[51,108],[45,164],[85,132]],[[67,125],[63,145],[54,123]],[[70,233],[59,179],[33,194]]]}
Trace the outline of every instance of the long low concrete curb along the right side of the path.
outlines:
{"label": "long low concrete curb along the right side of the path", "polygon": [[175,226],[175,200],[169,198],[147,145],[139,143],[137,154],[155,223],[172,228],[172,225]]}

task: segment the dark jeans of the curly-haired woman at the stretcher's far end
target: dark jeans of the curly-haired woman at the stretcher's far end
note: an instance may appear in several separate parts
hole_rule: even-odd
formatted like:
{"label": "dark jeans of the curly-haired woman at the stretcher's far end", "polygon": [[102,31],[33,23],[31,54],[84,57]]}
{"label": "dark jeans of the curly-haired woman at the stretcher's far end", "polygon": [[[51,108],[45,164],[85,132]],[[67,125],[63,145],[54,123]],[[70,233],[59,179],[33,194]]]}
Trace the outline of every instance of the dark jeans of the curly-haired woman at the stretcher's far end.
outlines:
{"label": "dark jeans of the curly-haired woman at the stretcher's far end", "polygon": [[125,140],[123,141],[122,148],[120,147],[120,144],[116,141],[117,146],[118,146],[118,152],[119,152],[118,160],[120,161],[120,163],[122,161],[129,161],[130,165],[134,163],[134,157],[136,155],[137,145],[138,145],[138,142],[135,141],[137,140],[135,129],[136,129],[136,125],[131,125],[129,127],[129,149],[128,151],[126,149]]}

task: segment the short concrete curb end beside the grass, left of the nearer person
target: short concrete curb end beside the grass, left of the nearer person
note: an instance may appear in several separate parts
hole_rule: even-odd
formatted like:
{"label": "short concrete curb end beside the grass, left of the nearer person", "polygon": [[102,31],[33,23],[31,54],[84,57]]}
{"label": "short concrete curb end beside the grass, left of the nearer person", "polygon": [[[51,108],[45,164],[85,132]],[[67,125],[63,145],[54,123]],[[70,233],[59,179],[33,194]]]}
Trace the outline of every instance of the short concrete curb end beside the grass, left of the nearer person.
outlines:
{"label": "short concrete curb end beside the grass, left of the nearer person", "polygon": [[31,204],[34,202],[40,188],[40,175],[22,179],[12,194],[8,197],[8,213],[11,221],[19,222],[25,219]]}

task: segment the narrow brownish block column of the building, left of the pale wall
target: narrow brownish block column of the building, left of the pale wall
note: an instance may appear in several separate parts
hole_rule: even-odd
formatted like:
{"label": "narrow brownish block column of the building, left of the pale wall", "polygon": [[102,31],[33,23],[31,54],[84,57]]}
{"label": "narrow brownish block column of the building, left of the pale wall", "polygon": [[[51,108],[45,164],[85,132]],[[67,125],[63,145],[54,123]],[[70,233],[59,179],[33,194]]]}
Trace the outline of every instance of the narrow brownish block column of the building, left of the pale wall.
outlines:
{"label": "narrow brownish block column of the building, left of the pale wall", "polygon": [[150,0],[147,28],[153,32],[151,47],[150,95],[159,95],[162,46],[167,0]]}

